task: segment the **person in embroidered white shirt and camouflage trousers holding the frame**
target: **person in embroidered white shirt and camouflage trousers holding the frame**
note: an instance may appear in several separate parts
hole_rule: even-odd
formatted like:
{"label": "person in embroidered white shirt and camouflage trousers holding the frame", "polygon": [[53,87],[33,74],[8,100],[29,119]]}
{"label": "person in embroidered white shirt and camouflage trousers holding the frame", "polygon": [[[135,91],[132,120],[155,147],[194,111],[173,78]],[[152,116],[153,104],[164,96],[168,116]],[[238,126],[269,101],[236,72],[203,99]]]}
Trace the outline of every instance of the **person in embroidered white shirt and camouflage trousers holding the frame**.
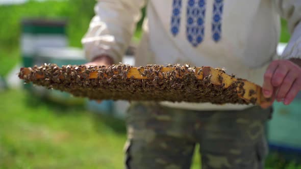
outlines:
{"label": "person in embroidered white shirt and camouflage trousers holding the frame", "polygon": [[[82,40],[91,65],[122,61],[147,6],[136,66],[225,68],[263,85],[288,105],[301,89],[300,0],[98,1]],[[277,55],[280,16],[291,39]],[[263,168],[270,104],[135,102],[127,114],[127,168],[189,168],[197,144],[202,168]]]}

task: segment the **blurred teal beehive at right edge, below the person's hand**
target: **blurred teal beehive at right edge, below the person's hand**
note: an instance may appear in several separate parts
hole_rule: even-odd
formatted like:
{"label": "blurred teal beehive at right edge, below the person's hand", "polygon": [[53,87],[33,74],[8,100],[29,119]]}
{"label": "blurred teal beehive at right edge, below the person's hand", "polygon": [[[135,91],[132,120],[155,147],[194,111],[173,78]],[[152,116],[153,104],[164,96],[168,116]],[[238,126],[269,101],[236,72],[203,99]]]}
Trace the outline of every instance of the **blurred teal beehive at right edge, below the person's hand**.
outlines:
{"label": "blurred teal beehive at right edge, below the person's hand", "polygon": [[290,105],[275,102],[273,107],[267,134],[270,149],[301,157],[301,93]]}

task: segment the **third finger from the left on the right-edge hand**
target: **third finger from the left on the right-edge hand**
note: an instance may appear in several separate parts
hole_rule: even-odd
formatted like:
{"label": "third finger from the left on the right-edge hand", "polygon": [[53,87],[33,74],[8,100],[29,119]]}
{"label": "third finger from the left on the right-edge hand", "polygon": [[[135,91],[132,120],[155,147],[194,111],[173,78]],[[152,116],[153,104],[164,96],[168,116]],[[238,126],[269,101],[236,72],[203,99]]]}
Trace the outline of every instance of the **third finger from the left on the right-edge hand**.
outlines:
{"label": "third finger from the left on the right-edge hand", "polygon": [[298,75],[292,71],[289,71],[287,73],[277,93],[277,97],[276,97],[277,101],[281,101],[285,98],[285,96],[287,95],[289,89],[293,85],[293,82],[295,81],[297,76]]}

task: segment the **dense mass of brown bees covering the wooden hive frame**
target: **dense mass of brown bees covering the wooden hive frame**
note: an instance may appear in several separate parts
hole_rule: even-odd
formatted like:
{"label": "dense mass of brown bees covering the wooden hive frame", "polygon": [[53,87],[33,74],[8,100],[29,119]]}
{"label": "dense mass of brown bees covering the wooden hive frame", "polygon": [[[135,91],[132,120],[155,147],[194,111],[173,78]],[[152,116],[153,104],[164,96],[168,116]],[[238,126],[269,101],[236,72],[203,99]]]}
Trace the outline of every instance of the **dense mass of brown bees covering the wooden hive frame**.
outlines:
{"label": "dense mass of brown bees covering the wooden hive frame", "polygon": [[[137,68],[140,75],[147,77],[137,79],[128,77],[130,65],[112,66],[62,66],[44,64],[30,68],[30,73],[19,77],[34,85],[47,89],[68,92],[75,97],[87,97],[95,100],[128,100],[128,101],[171,101],[171,102],[211,102],[214,104],[256,103],[256,98],[247,102],[238,97],[244,90],[243,82],[237,81],[230,87],[211,84],[211,74],[203,79],[197,79],[202,69],[196,71],[189,65],[167,65],[174,68],[170,72],[163,72],[163,66],[146,65]],[[220,69],[220,71],[223,71]],[[97,78],[89,78],[91,72],[97,72]],[[42,75],[43,78],[36,78]],[[231,76],[234,77],[234,76]],[[221,82],[222,77],[218,80]],[[241,93],[242,92],[242,93]],[[249,94],[254,94],[255,91]]]}

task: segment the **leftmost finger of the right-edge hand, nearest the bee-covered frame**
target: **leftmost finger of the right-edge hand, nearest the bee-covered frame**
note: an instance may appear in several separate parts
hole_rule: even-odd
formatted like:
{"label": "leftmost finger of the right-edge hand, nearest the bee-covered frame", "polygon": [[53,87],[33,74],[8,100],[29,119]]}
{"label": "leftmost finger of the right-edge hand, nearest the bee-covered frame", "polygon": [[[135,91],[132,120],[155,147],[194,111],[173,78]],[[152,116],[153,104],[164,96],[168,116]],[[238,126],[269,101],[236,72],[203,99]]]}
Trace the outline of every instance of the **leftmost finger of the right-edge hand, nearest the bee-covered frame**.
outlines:
{"label": "leftmost finger of the right-edge hand, nearest the bee-covered frame", "polygon": [[268,68],[264,74],[262,93],[263,93],[264,97],[266,97],[266,98],[270,98],[273,94],[273,86],[271,83],[271,79],[272,79],[273,74],[274,74],[275,70],[277,69],[277,67],[278,67],[278,62],[277,61],[272,62],[268,66]]}

